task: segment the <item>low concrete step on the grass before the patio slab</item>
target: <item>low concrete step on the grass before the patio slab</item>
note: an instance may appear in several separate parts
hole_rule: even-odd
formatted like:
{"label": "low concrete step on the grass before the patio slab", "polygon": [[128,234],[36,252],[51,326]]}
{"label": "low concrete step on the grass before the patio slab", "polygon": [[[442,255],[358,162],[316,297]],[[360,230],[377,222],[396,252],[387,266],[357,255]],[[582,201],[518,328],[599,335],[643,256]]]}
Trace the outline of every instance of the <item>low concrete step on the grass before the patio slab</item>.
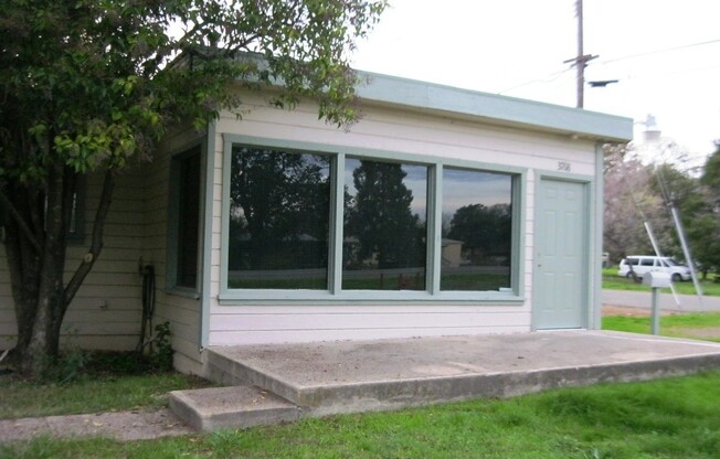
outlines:
{"label": "low concrete step on the grass before the patio slab", "polygon": [[296,405],[257,386],[173,391],[169,402],[179,418],[202,431],[294,421],[301,415]]}

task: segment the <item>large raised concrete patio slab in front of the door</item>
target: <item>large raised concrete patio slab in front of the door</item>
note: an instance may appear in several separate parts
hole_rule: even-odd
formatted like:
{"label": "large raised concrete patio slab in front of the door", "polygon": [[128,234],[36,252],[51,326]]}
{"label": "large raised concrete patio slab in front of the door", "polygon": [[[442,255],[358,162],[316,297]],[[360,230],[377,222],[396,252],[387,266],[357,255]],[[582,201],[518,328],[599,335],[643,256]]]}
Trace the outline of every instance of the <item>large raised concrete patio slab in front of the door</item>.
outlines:
{"label": "large raised concrete patio slab in front of the door", "polygon": [[223,346],[209,364],[321,416],[690,374],[720,369],[720,344],[574,330]]}

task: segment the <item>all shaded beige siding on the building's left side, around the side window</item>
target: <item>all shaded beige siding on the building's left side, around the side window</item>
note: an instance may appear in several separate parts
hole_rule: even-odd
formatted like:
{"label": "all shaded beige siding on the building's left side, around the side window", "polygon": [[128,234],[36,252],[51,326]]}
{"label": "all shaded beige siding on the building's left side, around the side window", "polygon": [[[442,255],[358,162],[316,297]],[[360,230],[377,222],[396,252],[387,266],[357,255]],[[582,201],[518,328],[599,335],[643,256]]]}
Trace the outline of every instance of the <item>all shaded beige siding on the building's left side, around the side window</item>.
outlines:
{"label": "all shaded beige siding on the building's left side, around the side window", "polygon": [[[153,323],[170,322],[177,366],[189,373],[200,372],[200,301],[169,295],[165,285],[170,157],[197,140],[194,130],[178,131],[150,163],[129,168],[117,177],[103,253],[67,310],[64,343],[85,349],[135,349],[142,308],[139,266],[153,265]],[[72,275],[89,244],[102,180],[100,175],[87,180],[86,236],[82,244],[71,245],[66,276]],[[0,248],[0,350],[12,346],[15,334],[9,271],[4,249]]]}

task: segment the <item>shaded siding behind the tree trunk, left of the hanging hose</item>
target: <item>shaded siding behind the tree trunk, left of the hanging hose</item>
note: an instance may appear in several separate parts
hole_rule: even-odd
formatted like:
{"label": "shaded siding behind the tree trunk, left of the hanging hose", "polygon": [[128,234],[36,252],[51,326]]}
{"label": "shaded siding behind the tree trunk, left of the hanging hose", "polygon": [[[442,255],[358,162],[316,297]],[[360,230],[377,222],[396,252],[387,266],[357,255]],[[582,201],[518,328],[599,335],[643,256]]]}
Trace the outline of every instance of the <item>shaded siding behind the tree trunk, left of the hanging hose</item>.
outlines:
{"label": "shaded siding behind the tree trunk, left of the hanging hose", "polygon": [[[113,204],[107,216],[103,252],[63,321],[63,343],[85,349],[130,350],[137,344],[140,324],[138,259],[142,238],[142,172],[129,169],[116,180]],[[86,181],[85,237],[72,242],[67,250],[65,277],[68,279],[86,253],[92,218],[97,207],[103,177]],[[18,333],[10,293],[10,274],[0,248],[0,349],[12,346]]]}

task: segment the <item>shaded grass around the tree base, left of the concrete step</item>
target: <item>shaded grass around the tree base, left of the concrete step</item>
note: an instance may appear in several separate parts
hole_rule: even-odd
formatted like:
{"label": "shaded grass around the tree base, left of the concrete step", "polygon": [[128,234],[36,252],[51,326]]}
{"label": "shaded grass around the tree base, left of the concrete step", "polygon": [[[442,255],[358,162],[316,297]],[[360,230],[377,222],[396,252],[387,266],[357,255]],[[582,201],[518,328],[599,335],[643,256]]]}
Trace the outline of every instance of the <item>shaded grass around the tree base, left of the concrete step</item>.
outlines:
{"label": "shaded grass around the tree base, left of the concrete step", "polygon": [[0,418],[156,409],[167,405],[170,391],[208,385],[199,377],[155,372],[130,353],[97,353],[84,372],[66,384],[0,375]]}

